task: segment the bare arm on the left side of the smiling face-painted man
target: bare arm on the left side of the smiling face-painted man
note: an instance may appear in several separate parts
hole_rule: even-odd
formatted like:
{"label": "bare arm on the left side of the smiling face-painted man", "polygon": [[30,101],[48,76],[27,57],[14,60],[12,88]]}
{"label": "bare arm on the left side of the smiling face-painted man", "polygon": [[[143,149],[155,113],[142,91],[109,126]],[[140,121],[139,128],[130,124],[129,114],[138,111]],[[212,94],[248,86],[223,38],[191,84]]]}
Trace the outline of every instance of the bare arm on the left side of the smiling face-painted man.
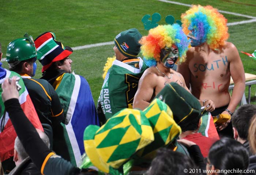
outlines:
{"label": "bare arm on the left side of the smiling face-painted man", "polygon": [[138,90],[133,99],[133,109],[139,108],[144,110],[150,103],[150,100],[154,93],[156,79],[154,73],[147,73],[139,80]]}

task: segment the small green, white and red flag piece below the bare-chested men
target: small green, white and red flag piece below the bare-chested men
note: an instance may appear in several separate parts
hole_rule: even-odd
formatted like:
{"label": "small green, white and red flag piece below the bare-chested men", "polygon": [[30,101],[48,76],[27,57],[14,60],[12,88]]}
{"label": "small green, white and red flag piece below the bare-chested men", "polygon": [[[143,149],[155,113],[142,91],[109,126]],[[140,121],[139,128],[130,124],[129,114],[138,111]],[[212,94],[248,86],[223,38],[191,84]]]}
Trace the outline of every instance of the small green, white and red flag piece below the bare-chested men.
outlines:
{"label": "small green, white and red flag piece below the bare-chested men", "polygon": [[198,132],[202,133],[203,136],[219,139],[219,134],[215,128],[211,113],[204,113],[201,119],[202,122]]}

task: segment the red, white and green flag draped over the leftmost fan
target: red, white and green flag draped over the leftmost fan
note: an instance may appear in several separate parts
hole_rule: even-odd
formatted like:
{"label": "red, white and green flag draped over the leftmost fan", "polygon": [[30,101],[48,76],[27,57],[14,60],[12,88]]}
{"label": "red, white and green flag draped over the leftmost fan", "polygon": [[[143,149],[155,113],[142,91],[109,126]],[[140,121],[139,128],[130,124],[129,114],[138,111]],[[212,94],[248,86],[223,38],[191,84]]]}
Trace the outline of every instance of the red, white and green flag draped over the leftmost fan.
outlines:
{"label": "red, white and green flag draped over the leftmost fan", "polygon": [[[1,71],[3,71],[3,68],[0,67],[0,69]],[[2,84],[6,78],[9,78],[9,77],[11,78],[12,76],[20,77],[20,75],[15,72],[11,72],[6,69],[5,71],[6,71],[6,76],[0,80],[0,84]],[[35,111],[34,105],[30,99],[30,96],[26,90],[26,87],[25,87],[25,84],[23,83],[22,78],[20,78],[19,84],[22,87],[21,90],[19,91],[19,102],[23,112],[26,114],[27,118],[30,120],[30,122],[34,125],[35,128],[41,129],[43,131],[41,122],[39,121],[37,112]],[[0,92],[2,92],[1,86],[0,86]],[[2,108],[0,122],[2,122],[3,115],[4,115],[4,108],[5,108],[2,98],[0,100],[0,105]],[[17,134],[11,123],[11,120],[9,119],[9,115],[8,113],[6,113],[5,119],[4,119],[4,130],[3,132],[0,131],[1,161],[4,161],[14,155],[14,140],[16,136]]]}

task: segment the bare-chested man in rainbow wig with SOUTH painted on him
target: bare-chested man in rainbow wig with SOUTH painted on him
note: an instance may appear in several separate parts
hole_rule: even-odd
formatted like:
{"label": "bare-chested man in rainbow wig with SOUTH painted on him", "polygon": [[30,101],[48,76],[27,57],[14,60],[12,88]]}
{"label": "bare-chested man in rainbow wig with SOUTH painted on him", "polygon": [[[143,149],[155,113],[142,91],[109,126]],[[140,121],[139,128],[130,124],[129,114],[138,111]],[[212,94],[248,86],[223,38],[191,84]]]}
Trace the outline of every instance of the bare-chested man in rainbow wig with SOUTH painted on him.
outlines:
{"label": "bare-chested man in rainbow wig with SOUTH painted on him", "polygon": [[[196,98],[214,101],[217,108],[212,116],[232,115],[245,90],[245,74],[236,46],[226,42],[229,37],[227,19],[209,5],[193,5],[181,15],[181,21],[192,47],[177,71]],[[232,97],[228,91],[230,76],[235,85]],[[217,129],[223,130],[229,122],[218,125]],[[229,131],[228,135],[232,136],[232,127],[228,128],[219,134],[227,135]]]}

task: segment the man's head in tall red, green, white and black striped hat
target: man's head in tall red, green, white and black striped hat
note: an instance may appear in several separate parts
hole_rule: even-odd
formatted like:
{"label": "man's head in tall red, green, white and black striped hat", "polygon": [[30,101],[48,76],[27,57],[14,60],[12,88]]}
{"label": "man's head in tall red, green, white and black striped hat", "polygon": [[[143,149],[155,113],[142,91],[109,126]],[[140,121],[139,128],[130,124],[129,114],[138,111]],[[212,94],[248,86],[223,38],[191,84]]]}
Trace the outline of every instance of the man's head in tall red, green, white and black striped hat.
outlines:
{"label": "man's head in tall red, green, white and black striped hat", "polygon": [[73,50],[71,47],[63,46],[56,41],[56,36],[52,32],[45,32],[35,39],[35,47],[38,50],[38,59],[43,68],[42,72],[52,69],[60,69],[71,73],[72,60],[69,55]]}

